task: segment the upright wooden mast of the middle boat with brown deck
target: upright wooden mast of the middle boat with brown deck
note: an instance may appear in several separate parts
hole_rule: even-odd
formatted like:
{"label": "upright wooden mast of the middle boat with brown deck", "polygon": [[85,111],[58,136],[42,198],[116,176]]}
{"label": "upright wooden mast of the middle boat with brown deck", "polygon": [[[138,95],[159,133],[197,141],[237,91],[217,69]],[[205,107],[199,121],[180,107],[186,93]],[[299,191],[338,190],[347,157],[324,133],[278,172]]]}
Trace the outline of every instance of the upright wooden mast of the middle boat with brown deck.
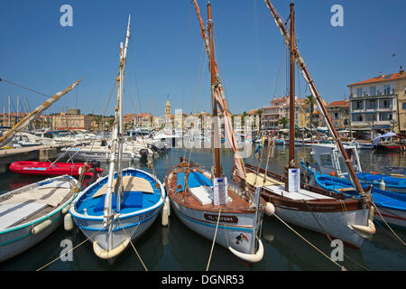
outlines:
{"label": "upright wooden mast of the middle boat with brown deck", "polygon": [[211,102],[213,106],[213,140],[215,148],[215,176],[217,178],[221,175],[221,164],[220,164],[220,145],[218,141],[218,118],[217,118],[217,101],[214,95],[214,89],[216,87],[216,71],[215,71],[215,60],[214,60],[214,43],[213,43],[213,21],[211,19],[211,5],[208,2],[208,41],[210,47],[210,84],[211,84]]}

